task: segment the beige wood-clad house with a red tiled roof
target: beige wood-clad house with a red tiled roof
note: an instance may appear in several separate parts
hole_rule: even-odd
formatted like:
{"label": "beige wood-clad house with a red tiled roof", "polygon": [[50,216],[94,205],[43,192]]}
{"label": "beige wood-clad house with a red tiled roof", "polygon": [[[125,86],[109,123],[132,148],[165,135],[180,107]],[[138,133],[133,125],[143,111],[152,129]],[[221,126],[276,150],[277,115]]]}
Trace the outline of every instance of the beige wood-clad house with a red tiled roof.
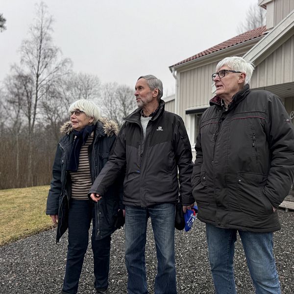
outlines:
{"label": "beige wood-clad house with a red tiled roof", "polygon": [[[255,65],[250,88],[265,89],[283,101],[294,120],[294,0],[259,0],[267,10],[266,26],[247,31],[170,66],[174,99],[166,104],[180,115],[194,150],[201,114],[214,96],[211,74],[228,56],[242,56]],[[174,105],[174,106],[173,106]],[[194,154],[195,156],[195,154]]]}

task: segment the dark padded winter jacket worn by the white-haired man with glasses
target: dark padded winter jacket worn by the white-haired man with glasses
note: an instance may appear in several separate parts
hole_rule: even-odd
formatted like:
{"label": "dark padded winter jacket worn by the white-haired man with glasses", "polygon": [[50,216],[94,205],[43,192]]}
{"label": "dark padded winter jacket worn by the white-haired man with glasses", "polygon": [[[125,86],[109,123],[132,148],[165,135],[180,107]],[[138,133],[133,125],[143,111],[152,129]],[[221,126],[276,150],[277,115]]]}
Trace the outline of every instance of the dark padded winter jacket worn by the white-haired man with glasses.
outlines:
{"label": "dark padded winter jacket worn by the white-haired man with glasses", "polygon": [[294,179],[294,128],[280,99],[249,85],[227,111],[210,100],[200,120],[193,169],[197,218],[221,228],[280,229],[277,208]]}

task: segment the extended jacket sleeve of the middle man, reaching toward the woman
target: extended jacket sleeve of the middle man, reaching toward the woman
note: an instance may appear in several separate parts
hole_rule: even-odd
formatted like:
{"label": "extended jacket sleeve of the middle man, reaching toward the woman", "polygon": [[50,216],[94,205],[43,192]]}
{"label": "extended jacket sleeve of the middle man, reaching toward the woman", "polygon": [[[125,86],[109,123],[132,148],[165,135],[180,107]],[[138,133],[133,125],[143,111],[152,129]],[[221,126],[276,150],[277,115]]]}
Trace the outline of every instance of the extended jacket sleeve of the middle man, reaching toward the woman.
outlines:
{"label": "extended jacket sleeve of the middle man, reaching toward the woman", "polygon": [[88,194],[97,193],[103,196],[110,185],[112,185],[115,180],[124,171],[125,166],[125,136],[124,136],[125,124],[123,125],[120,133],[111,150],[109,159],[101,172],[95,179],[94,184],[89,190]]}

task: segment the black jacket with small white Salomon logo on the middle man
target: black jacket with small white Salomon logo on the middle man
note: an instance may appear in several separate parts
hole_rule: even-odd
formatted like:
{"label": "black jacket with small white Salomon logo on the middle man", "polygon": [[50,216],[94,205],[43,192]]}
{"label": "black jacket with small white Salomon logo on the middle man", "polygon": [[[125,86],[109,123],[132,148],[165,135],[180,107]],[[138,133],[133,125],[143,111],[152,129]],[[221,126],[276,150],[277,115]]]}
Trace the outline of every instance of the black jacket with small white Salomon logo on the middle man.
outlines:
{"label": "black jacket with small white Salomon logo on the middle man", "polygon": [[165,111],[164,105],[161,100],[158,111],[148,122],[145,140],[140,109],[124,119],[113,153],[89,193],[104,196],[125,167],[123,204],[147,207],[176,203],[179,192],[184,205],[194,203],[191,187],[193,162],[188,135],[183,120]]}

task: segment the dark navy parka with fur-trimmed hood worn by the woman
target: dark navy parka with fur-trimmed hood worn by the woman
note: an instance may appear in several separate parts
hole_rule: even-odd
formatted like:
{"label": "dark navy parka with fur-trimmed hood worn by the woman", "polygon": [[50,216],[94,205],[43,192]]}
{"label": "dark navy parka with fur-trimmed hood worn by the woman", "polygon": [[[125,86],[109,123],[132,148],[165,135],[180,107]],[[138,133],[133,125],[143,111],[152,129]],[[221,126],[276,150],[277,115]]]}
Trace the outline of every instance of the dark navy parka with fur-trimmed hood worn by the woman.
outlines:
{"label": "dark navy parka with fur-trimmed hood worn by the woman", "polygon": [[[50,184],[47,199],[47,215],[58,215],[56,242],[68,228],[68,209],[71,198],[71,176],[66,167],[73,146],[74,134],[70,122],[65,123],[62,132],[65,135],[60,139],[57,146],[56,155],[53,163],[53,177]],[[106,164],[110,150],[118,134],[117,123],[105,118],[99,119],[96,123],[93,144],[89,147],[89,163],[92,182]],[[107,203],[101,199],[95,203],[96,217],[96,239],[102,239],[116,229],[115,221],[119,207],[122,206],[123,186],[119,182],[110,187],[107,193]],[[121,205],[120,205],[121,204]],[[94,201],[93,201],[94,205]]]}

